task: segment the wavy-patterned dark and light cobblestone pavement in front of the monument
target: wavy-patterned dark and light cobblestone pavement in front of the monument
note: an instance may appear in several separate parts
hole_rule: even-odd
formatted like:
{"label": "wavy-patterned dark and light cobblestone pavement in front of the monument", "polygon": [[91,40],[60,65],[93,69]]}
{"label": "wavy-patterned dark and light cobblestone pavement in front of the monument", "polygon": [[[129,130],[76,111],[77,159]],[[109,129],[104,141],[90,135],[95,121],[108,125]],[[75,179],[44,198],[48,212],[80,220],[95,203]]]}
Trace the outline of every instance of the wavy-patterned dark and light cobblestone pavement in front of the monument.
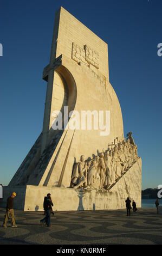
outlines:
{"label": "wavy-patterned dark and light cobblestone pavement in front of the monument", "polygon": [[3,228],[5,209],[0,208],[0,244],[111,245],[162,244],[162,215],[155,209],[57,211],[51,227],[41,227],[43,212],[15,210],[17,228]]}

